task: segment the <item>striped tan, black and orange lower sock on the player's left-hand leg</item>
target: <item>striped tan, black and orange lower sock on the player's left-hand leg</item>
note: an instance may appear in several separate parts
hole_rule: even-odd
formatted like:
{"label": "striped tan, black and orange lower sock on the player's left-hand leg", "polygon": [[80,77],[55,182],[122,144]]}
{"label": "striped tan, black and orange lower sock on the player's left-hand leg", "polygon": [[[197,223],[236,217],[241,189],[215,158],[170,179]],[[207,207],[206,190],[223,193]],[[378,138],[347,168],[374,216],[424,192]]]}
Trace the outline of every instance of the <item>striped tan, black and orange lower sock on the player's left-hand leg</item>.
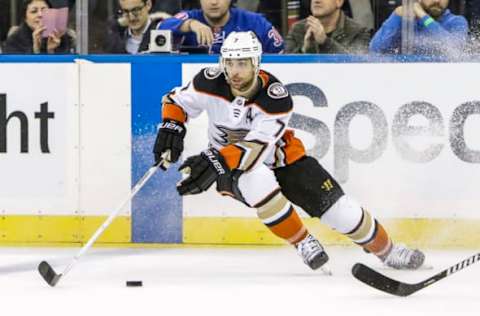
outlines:
{"label": "striped tan, black and orange lower sock on the player's left-hand leg", "polygon": [[255,207],[258,217],[270,231],[290,244],[295,245],[307,236],[307,228],[300,216],[281,192]]}

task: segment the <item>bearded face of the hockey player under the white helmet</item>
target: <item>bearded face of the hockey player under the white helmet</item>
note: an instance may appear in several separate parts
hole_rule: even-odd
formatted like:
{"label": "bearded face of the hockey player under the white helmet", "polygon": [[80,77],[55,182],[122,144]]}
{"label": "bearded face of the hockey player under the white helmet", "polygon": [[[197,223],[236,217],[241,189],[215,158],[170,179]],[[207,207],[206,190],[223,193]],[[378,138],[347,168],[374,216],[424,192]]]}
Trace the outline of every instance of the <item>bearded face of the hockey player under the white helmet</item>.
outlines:
{"label": "bearded face of the hockey player under the white helmet", "polygon": [[250,58],[225,60],[225,71],[230,86],[238,91],[248,90],[255,79],[255,67]]}

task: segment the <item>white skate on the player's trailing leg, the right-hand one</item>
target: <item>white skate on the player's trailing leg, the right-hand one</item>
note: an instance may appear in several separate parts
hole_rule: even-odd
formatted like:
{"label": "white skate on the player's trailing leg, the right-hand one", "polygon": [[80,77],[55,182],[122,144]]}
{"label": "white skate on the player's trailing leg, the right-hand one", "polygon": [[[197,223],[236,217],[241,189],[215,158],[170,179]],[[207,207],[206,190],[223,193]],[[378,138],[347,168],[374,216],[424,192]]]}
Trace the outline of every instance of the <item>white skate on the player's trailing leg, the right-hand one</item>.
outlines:
{"label": "white skate on the player's trailing leg, the right-hand one", "polygon": [[385,265],[397,270],[416,270],[423,265],[425,255],[418,249],[394,244],[382,261]]}

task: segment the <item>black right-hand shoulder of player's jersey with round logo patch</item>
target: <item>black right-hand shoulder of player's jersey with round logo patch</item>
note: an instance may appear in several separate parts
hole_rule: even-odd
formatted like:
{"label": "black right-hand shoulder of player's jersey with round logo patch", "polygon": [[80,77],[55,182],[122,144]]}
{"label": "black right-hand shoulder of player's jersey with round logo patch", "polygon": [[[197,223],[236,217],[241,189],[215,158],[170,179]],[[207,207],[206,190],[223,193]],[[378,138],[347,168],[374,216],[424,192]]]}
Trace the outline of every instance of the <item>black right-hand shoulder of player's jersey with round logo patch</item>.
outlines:
{"label": "black right-hand shoulder of player's jersey with round logo patch", "polygon": [[282,114],[292,111],[292,97],[280,80],[264,70],[260,71],[259,77],[262,81],[262,89],[255,98],[255,104],[268,114]]}

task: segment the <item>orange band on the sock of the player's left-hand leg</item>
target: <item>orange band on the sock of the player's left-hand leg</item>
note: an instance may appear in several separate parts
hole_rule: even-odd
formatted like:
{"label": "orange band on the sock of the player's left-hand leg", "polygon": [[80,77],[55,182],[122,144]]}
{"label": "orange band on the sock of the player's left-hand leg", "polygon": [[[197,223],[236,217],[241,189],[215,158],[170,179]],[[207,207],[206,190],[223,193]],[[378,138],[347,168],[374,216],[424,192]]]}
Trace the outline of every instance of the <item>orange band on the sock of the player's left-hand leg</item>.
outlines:
{"label": "orange band on the sock of the player's left-hand leg", "polygon": [[267,227],[274,233],[276,236],[287,240],[291,244],[295,244],[307,236],[308,231],[303,225],[300,216],[298,216],[295,209],[292,207],[291,212],[288,216],[276,221]]}

